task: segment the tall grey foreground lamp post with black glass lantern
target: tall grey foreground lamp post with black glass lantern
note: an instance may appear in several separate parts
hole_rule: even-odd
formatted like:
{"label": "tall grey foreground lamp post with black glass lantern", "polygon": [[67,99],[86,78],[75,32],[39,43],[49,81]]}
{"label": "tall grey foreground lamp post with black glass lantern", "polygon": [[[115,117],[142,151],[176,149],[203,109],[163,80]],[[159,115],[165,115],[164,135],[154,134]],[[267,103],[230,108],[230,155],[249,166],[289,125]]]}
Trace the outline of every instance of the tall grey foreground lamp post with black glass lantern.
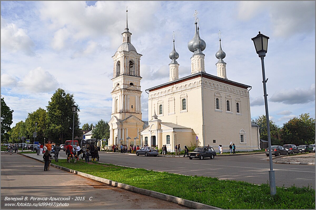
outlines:
{"label": "tall grey foreground lamp post with black glass lantern", "polygon": [[270,135],[270,121],[269,121],[269,111],[268,111],[268,98],[267,98],[267,88],[266,82],[268,79],[265,79],[265,72],[264,72],[264,57],[265,53],[268,51],[268,39],[269,37],[260,33],[252,38],[253,44],[255,45],[256,52],[258,56],[261,58],[261,67],[262,67],[262,78],[263,78],[263,92],[264,92],[264,105],[265,105],[265,117],[267,121],[267,132],[268,132],[268,148],[269,148],[269,163],[270,163],[270,171],[269,171],[269,181],[270,181],[270,195],[276,194],[276,181],[275,175],[273,171],[272,165],[272,153],[271,153],[271,135]]}

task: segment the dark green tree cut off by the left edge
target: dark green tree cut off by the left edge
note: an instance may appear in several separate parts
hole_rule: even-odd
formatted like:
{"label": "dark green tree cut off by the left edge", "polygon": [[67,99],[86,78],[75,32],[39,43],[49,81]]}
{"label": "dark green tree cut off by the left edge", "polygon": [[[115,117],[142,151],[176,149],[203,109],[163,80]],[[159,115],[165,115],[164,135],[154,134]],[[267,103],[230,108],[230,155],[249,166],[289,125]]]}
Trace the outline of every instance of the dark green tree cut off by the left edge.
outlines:
{"label": "dark green tree cut off by the left edge", "polygon": [[4,102],[4,98],[1,98],[1,140],[9,141],[8,131],[11,129],[13,110],[10,110],[9,106]]}

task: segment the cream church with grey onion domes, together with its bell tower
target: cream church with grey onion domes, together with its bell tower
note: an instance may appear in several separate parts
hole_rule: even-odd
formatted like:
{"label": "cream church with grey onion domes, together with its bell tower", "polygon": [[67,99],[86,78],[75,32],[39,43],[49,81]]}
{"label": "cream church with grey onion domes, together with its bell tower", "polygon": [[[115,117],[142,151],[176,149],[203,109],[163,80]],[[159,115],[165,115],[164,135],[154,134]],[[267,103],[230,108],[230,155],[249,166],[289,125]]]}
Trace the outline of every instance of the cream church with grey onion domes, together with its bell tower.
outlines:
{"label": "cream church with grey onion domes, together with its bell tower", "polygon": [[[197,20],[197,18],[195,18]],[[191,57],[191,74],[179,78],[178,52],[169,54],[169,80],[146,91],[149,122],[142,121],[140,57],[131,44],[131,33],[126,27],[123,44],[114,54],[112,118],[109,145],[139,142],[141,145],[167,145],[173,152],[175,145],[207,146],[236,150],[260,149],[258,125],[251,122],[249,90],[251,86],[228,80],[225,52],[216,53],[217,75],[204,68],[206,43],[199,36],[195,21],[195,34],[188,43]],[[208,70],[212,72],[212,69]],[[215,71],[215,69],[214,69]]]}

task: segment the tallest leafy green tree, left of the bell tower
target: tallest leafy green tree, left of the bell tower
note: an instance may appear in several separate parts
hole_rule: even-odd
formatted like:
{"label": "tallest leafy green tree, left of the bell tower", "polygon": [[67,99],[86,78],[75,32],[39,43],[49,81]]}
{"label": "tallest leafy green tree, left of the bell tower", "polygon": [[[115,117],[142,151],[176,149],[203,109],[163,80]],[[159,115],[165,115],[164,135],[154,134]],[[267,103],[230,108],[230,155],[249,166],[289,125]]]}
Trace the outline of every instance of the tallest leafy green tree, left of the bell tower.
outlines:
{"label": "tallest leafy green tree, left of the bell tower", "polygon": [[[47,135],[49,140],[54,142],[64,143],[65,140],[72,139],[72,123],[73,112],[71,106],[75,105],[74,95],[65,93],[61,88],[58,88],[53,94],[51,101],[48,102],[47,108]],[[77,106],[74,122],[74,138],[82,136],[79,128]]]}

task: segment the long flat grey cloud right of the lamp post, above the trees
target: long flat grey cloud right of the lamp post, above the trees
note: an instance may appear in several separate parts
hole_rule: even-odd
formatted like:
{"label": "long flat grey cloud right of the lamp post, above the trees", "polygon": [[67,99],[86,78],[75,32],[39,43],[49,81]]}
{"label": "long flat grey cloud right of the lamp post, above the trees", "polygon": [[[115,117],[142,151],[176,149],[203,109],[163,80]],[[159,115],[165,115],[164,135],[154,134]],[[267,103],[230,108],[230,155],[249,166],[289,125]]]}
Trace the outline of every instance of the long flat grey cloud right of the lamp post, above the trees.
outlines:
{"label": "long flat grey cloud right of the lamp post, above the trees", "polygon": [[309,88],[281,90],[272,95],[272,102],[283,104],[306,104],[315,101],[315,84]]}

